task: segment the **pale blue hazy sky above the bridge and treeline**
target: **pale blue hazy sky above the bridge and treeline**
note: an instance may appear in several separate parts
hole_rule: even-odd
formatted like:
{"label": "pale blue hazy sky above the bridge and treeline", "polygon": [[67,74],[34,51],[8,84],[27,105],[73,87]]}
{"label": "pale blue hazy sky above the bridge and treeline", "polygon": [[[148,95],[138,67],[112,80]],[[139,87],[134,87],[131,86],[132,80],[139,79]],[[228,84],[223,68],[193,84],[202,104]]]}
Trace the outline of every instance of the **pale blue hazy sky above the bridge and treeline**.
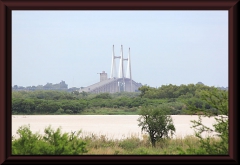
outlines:
{"label": "pale blue hazy sky above the bridge and treeline", "polygon": [[142,85],[228,87],[227,10],[13,10],[12,86],[95,84],[113,45]]}

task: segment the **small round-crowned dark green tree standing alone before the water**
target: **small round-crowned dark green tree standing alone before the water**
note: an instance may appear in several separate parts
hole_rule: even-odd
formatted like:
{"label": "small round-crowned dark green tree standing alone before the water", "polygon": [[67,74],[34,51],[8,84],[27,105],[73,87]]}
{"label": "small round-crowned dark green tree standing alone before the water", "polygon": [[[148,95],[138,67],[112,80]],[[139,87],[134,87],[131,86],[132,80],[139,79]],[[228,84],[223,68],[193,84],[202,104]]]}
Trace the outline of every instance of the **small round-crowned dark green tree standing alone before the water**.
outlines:
{"label": "small round-crowned dark green tree standing alone before the water", "polygon": [[149,134],[153,147],[156,146],[158,140],[169,138],[169,133],[173,136],[176,131],[172,117],[167,115],[168,111],[166,106],[144,106],[140,109],[138,126]]}

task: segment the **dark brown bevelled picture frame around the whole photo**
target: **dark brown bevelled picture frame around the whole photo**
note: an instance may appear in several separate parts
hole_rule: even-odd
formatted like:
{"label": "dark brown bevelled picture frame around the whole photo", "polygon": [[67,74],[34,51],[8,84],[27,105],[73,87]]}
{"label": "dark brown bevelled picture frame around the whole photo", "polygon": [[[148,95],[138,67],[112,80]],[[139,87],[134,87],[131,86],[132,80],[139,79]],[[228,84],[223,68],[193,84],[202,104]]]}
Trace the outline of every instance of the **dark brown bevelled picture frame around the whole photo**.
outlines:
{"label": "dark brown bevelled picture frame around the whole photo", "polygon": [[[237,53],[239,0],[0,0],[0,164],[238,164]],[[229,155],[13,156],[11,155],[12,10],[228,10]],[[217,60],[217,59],[216,59]]]}

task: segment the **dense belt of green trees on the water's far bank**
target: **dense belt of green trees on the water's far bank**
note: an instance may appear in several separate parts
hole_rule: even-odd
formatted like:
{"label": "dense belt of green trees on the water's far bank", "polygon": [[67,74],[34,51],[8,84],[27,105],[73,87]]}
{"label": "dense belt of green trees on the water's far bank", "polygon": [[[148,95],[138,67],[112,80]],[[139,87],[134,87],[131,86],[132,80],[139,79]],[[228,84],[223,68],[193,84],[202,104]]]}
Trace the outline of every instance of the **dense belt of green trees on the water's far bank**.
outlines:
{"label": "dense belt of green trees on the water's far bank", "polygon": [[[89,94],[78,91],[13,90],[12,114],[133,114],[143,105],[160,105],[168,108],[169,115],[199,114],[198,109],[217,115],[219,112],[200,99],[202,91],[216,87],[204,84],[162,85],[153,88],[144,85],[139,92]],[[218,89],[222,90],[222,89]],[[227,93],[227,90],[223,90]],[[114,113],[115,112],[115,113]]]}

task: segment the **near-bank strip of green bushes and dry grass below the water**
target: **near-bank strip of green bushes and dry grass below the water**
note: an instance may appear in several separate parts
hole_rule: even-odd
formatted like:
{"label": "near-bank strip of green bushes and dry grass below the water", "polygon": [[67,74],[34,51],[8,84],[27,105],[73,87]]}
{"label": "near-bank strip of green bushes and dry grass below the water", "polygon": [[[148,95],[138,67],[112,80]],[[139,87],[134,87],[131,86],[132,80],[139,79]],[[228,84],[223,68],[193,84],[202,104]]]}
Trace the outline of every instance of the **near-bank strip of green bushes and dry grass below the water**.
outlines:
{"label": "near-bank strip of green bushes and dry grass below the water", "polygon": [[[60,128],[53,130],[50,126],[44,135],[32,133],[30,126],[21,126],[17,132],[20,137],[12,140],[13,155],[179,155],[194,154],[189,148],[202,148],[194,136],[168,138],[157,141],[152,147],[148,135],[141,139],[135,136],[109,139],[105,135],[84,135],[81,131],[77,134],[61,133]],[[219,140],[211,138],[211,142]]]}

